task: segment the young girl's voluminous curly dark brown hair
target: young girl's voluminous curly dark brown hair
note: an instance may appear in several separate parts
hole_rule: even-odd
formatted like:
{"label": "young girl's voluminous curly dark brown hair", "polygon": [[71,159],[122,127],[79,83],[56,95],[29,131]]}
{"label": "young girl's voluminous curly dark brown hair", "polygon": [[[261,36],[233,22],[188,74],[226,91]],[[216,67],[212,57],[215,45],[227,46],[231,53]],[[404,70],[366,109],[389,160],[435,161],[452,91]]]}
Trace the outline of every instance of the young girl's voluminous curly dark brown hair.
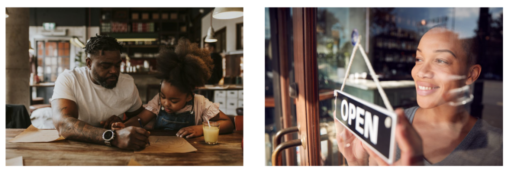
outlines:
{"label": "young girl's voluminous curly dark brown hair", "polygon": [[157,57],[157,78],[176,86],[183,93],[192,93],[204,86],[214,64],[206,49],[181,38],[175,50],[161,47]]}

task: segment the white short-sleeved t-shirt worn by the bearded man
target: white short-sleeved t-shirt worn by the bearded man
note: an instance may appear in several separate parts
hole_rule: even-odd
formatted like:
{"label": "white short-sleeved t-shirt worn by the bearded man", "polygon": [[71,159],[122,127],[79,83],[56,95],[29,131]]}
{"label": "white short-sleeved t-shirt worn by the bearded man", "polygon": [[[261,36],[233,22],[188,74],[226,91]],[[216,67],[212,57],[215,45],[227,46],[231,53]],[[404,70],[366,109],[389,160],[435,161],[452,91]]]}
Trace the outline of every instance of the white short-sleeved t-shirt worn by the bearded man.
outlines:
{"label": "white short-sleeved t-shirt worn by the bearded man", "polygon": [[65,70],[55,81],[52,100],[69,99],[78,106],[78,120],[95,127],[111,115],[121,119],[123,113],[142,107],[138,89],[132,76],[120,73],[114,89],[106,89],[92,82],[88,67]]}

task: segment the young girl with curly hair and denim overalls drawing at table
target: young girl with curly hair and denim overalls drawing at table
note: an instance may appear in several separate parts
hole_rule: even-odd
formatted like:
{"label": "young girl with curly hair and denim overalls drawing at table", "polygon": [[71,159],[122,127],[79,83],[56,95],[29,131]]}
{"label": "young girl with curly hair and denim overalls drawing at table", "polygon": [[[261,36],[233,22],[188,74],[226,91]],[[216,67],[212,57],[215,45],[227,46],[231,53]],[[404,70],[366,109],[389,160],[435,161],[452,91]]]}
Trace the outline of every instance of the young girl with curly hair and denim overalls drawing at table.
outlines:
{"label": "young girl with curly hair and denim overalls drawing at table", "polygon": [[204,121],[219,123],[219,133],[232,132],[232,121],[219,110],[219,104],[193,94],[205,85],[212,68],[209,52],[187,39],[180,39],[175,51],[162,48],[157,57],[160,93],[138,115],[125,123],[113,123],[111,128],[139,127],[138,119],[145,126],[155,118],[153,129],[179,130],[178,137],[202,136]]}

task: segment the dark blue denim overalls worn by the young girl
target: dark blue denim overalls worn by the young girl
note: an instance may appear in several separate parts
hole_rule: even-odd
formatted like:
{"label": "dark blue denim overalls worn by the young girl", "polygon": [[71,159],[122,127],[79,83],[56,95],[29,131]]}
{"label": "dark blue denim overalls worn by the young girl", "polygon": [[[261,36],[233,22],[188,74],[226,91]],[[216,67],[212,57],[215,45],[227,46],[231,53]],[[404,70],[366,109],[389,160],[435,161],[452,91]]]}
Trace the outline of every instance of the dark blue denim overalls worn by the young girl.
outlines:
{"label": "dark blue denim overalls worn by the young girl", "polygon": [[[187,105],[194,105],[194,100],[187,102]],[[157,114],[154,129],[180,130],[181,128],[194,126],[194,112],[167,113],[165,110],[159,110]]]}

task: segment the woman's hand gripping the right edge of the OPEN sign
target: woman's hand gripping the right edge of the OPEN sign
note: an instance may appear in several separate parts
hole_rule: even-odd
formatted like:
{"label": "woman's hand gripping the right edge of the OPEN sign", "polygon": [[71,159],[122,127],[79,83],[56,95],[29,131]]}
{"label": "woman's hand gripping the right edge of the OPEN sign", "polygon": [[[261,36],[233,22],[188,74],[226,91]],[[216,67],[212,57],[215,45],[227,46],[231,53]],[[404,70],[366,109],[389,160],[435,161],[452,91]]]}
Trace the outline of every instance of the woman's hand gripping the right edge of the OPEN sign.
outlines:
{"label": "woman's hand gripping the right edge of the OPEN sign", "polygon": [[[422,139],[417,131],[408,122],[405,117],[403,109],[396,109],[398,115],[398,125],[396,126],[396,142],[401,150],[400,160],[394,162],[392,165],[410,166],[410,165],[424,165],[424,158],[422,152]],[[367,153],[370,155],[370,160],[375,160],[378,165],[388,165],[382,158],[375,152],[365,147]],[[372,159],[373,158],[373,159]],[[371,163],[370,163],[371,164]]]}

